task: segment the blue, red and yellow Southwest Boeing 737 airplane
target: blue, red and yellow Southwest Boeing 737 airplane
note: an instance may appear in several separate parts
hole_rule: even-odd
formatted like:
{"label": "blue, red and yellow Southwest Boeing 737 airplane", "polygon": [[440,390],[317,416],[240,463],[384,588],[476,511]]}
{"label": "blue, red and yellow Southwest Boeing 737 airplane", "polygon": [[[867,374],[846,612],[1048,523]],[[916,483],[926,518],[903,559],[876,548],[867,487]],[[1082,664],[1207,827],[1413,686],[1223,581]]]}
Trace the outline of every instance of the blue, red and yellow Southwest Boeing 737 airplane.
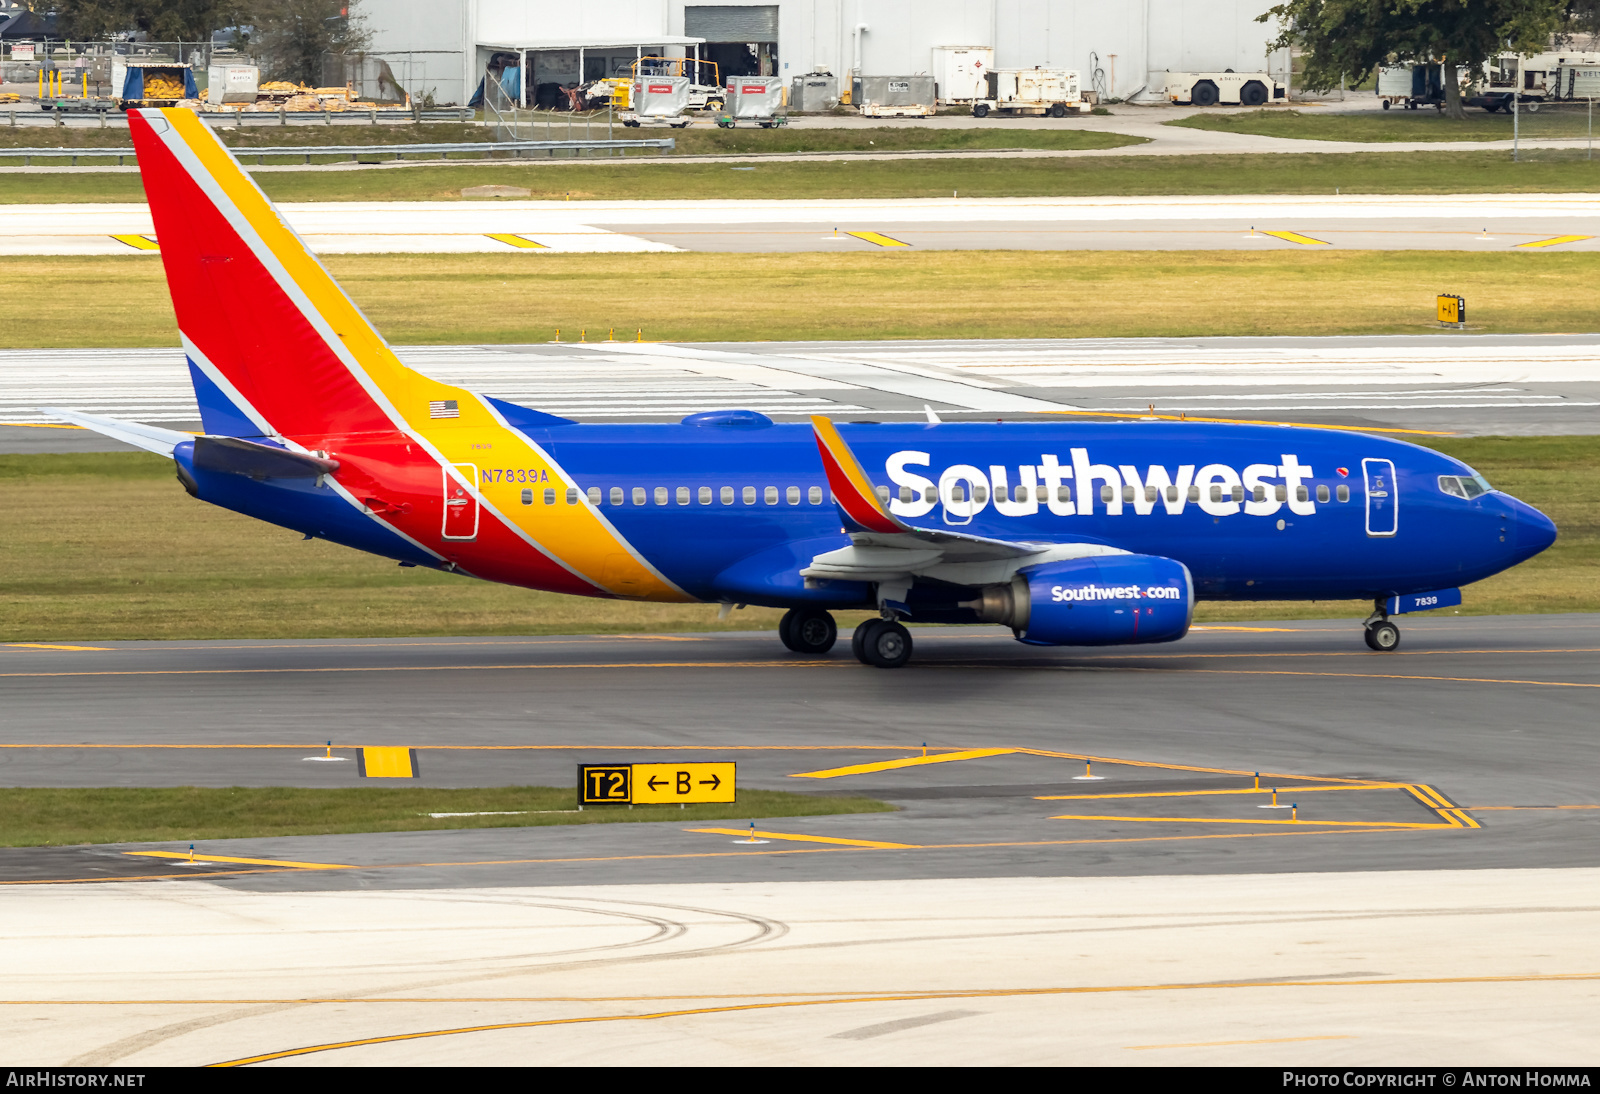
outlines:
{"label": "blue, red and yellow Southwest Boeing 737 airplane", "polygon": [[787,608],[822,654],[869,609],[1024,643],[1173,641],[1197,598],[1370,598],[1390,616],[1555,541],[1470,467],[1357,432],[1202,422],[582,425],[405,368],[189,110],[130,128],[203,435],[70,411],[170,456],[195,497],[398,560],[579,597]]}

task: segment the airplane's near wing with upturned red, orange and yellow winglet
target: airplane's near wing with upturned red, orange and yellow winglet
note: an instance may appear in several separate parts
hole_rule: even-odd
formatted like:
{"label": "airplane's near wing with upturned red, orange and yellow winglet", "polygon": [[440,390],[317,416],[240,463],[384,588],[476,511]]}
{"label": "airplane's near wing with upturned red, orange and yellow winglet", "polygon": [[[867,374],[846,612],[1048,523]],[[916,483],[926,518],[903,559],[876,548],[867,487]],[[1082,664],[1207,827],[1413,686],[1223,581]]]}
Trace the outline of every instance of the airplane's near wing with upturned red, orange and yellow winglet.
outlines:
{"label": "airplane's near wing with upturned red, orange and yellow winglet", "polygon": [[917,528],[890,512],[861,461],[827,417],[811,417],[834,504],[850,534],[850,547],[830,550],[800,571],[813,581],[907,584],[933,577],[960,585],[1010,581],[1024,566],[1088,555],[1123,555],[1104,544],[990,539],[966,533]]}

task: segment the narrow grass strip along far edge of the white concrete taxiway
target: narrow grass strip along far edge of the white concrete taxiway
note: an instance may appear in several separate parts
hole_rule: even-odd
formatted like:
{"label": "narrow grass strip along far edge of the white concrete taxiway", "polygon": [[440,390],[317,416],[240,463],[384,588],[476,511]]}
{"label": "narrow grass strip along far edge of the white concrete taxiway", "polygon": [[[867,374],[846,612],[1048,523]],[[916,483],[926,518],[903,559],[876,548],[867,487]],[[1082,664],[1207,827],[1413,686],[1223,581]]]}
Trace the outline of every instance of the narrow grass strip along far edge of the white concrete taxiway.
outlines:
{"label": "narrow grass strip along far edge of the white concrete taxiway", "polygon": [[[782,133],[779,134],[782,136]],[[1010,131],[1006,134],[1010,138]],[[744,139],[742,134],[739,139]],[[915,198],[1178,197],[1208,194],[1590,194],[1600,166],[1584,160],[1512,163],[1509,152],[1352,152],[1272,155],[1106,155],[1059,158],[827,158],[762,163],[437,165],[256,176],[280,202],[469,200],[469,186],[520,186],[534,198]],[[749,165],[744,165],[749,166]],[[0,176],[0,203],[139,202],[134,173]]]}

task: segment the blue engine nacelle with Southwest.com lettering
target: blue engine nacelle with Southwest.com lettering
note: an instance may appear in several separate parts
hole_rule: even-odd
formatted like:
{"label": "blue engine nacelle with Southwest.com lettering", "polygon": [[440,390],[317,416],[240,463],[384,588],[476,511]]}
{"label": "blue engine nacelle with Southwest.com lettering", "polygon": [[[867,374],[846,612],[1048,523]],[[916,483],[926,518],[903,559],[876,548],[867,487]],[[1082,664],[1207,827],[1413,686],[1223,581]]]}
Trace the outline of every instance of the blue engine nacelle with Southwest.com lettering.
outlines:
{"label": "blue engine nacelle with Southwest.com lettering", "polygon": [[1032,646],[1176,641],[1194,619],[1194,581],[1173,558],[1098,555],[1030,566],[966,606]]}

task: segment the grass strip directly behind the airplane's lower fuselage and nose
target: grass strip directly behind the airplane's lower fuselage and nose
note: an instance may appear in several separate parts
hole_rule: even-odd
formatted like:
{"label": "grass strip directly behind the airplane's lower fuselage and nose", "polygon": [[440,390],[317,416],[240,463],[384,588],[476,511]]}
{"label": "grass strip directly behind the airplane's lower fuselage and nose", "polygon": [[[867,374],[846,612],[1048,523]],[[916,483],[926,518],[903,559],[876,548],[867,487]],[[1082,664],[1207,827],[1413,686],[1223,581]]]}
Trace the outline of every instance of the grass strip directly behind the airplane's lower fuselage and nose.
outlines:
{"label": "grass strip directly behind the airplane's lower fuselage and nose", "polygon": [[[1549,513],[1557,544],[1466,592],[1466,614],[1600,611],[1600,438],[1443,438]],[[774,629],[712,605],[509,589],[302,542],[184,494],[157,456],[0,456],[0,641],[549,635]],[[1341,603],[1202,603],[1198,622],[1362,616]],[[862,616],[843,613],[840,630]]]}

